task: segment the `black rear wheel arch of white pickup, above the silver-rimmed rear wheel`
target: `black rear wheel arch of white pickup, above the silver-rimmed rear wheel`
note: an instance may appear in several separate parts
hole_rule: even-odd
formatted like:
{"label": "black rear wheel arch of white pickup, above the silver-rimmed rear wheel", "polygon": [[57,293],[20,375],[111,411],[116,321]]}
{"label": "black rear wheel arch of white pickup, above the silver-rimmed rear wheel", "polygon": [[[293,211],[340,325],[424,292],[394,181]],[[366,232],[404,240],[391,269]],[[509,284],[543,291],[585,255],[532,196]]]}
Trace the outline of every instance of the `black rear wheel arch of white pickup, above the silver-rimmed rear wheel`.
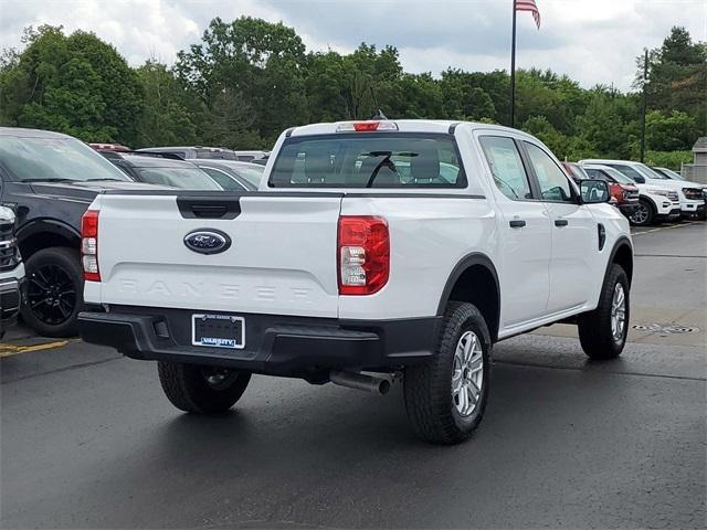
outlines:
{"label": "black rear wheel arch of white pickup, above the silver-rimmed rear wheel", "polygon": [[450,300],[474,304],[486,320],[492,340],[498,340],[500,284],[496,267],[487,255],[467,254],[454,266],[440,298],[439,316],[444,315]]}

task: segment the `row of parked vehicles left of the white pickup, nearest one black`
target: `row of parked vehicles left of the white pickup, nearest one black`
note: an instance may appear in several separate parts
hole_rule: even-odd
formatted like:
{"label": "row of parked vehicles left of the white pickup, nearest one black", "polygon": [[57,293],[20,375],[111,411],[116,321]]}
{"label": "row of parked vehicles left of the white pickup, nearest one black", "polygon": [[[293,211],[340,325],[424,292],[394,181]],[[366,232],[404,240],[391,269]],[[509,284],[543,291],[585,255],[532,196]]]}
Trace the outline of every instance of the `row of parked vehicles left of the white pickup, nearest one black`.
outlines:
{"label": "row of parked vehicles left of the white pickup, nearest one black", "polygon": [[76,316],[84,306],[81,218],[98,193],[252,191],[264,170],[233,159],[238,151],[221,156],[224,150],[219,149],[198,148],[203,152],[196,155],[210,152],[213,158],[187,161],[169,152],[88,147],[66,135],[13,127],[0,128],[0,204],[7,206],[0,209],[0,320],[7,326],[19,309],[28,326],[50,337],[76,333]]}

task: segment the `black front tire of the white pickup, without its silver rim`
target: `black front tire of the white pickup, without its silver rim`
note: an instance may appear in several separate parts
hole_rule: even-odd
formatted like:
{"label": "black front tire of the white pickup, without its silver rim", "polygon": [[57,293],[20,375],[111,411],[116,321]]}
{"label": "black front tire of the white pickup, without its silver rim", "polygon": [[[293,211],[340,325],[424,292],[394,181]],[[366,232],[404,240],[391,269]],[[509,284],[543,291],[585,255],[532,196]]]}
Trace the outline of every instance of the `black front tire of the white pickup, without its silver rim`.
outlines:
{"label": "black front tire of the white pickup, without its silver rim", "polygon": [[[612,305],[614,303],[616,285],[621,285],[625,298],[625,318],[619,338],[614,337],[612,330]],[[626,343],[626,336],[629,335],[631,317],[630,299],[626,273],[620,265],[613,264],[601,288],[597,309],[580,315],[579,317],[579,340],[582,344],[582,350],[584,350],[584,353],[591,359],[615,359],[623,351]]]}

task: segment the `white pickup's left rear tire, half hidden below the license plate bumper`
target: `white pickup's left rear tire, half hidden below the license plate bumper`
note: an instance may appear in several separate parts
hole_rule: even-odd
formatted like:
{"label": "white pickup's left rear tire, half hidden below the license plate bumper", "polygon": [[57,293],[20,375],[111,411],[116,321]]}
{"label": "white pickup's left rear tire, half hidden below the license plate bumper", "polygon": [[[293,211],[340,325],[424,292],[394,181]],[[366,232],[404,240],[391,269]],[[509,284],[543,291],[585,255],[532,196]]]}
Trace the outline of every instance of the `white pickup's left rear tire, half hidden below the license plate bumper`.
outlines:
{"label": "white pickup's left rear tire, half hidden below the license plate bumper", "polygon": [[[177,409],[197,414],[218,414],[231,409],[241,399],[251,380],[250,372],[225,370],[178,362],[158,362],[159,382],[167,399]],[[221,384],[207,379],[224,372]]]}

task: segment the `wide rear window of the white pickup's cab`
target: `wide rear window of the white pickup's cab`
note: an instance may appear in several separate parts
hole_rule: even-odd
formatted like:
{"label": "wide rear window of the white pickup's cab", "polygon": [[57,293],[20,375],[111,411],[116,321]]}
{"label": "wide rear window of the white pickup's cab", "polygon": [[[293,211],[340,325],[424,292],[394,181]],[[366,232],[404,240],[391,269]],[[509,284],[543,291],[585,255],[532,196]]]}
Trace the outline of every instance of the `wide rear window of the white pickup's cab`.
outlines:
{"label": "wide rear window of the white pickup's cab", "polygon": [[465,188],[452,135],[354,132],[287,138],[271,188]]}

